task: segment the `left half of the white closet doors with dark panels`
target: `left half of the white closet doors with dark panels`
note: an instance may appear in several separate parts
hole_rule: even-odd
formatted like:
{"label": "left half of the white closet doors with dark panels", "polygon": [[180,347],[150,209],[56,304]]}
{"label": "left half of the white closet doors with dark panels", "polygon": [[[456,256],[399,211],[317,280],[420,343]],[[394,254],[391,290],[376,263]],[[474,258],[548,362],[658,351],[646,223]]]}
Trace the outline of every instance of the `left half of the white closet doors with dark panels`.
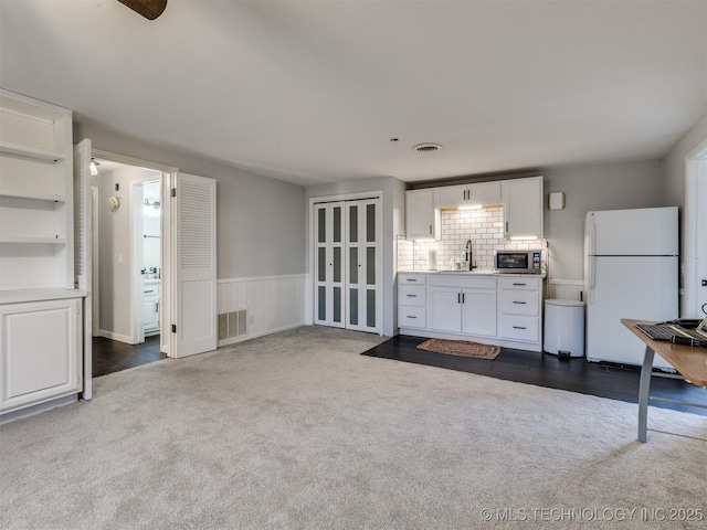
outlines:
{"label": "left half of the white closet doors with dark panels", "polygon": [[315,324],[344,328],[344,202],[315,205]]}

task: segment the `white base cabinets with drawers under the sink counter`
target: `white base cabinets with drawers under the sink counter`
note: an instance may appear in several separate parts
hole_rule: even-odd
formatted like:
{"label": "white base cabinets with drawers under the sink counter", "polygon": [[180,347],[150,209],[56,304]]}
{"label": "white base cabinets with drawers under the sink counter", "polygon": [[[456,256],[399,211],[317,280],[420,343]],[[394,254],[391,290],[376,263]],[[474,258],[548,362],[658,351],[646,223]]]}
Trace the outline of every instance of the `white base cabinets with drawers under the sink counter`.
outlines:
{"label": "white base cabinets with drawers under the sink counter", "polygon": [[541,304],[541,277],[444,272],[398,274],[401,335],[477,340],[542,351]]}

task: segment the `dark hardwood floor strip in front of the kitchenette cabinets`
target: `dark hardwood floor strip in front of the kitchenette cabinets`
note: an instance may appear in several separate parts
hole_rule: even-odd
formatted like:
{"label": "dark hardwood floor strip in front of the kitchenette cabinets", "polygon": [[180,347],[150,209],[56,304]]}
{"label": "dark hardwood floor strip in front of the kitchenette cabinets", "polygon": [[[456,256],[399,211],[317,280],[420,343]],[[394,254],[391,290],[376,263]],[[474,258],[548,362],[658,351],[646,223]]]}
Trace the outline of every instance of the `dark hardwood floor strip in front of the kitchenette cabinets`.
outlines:
{"label": "dark hardwood floor strip in front of the kitchenette cabinets", "polygon": [[[504,348],[496,359],[488,361],[419,350],[418,344],[425,340],[428,339],[399,335],[362,354],[477,373],[629,403],[639,402],[641,373],[639,368],[587,362],[584,358],[560,359],[549,353],[510,348]],[[651,395],[707,405],[707,391],[703,386],[658,373],[654,374],[651,381]],[[651,405],[707,416],[707,409],[658,401],[652,401]]]}

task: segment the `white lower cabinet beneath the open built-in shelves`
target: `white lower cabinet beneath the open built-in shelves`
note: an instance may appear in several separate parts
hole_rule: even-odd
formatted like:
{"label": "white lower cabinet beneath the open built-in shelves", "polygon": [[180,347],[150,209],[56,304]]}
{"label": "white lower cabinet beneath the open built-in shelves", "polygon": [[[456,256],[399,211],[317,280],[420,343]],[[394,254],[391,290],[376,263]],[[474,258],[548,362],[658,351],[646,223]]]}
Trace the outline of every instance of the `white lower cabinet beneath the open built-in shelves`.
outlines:
{"label": "white lower cabinet beneath the open built-in shelves", "polygon": [[78,298],[0,306],[0,413],[81,391]]}

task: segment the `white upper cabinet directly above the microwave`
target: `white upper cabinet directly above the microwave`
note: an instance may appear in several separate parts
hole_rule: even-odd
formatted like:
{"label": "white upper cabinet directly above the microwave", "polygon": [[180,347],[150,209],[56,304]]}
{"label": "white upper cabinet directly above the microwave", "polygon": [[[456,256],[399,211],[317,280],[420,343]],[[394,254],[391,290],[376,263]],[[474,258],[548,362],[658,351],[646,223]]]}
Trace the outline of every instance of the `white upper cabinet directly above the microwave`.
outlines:
{"label": "white upper cabinet directly above the microwave", "polygon": [[542,177],[500,184],[506,237],[542,237]]}

